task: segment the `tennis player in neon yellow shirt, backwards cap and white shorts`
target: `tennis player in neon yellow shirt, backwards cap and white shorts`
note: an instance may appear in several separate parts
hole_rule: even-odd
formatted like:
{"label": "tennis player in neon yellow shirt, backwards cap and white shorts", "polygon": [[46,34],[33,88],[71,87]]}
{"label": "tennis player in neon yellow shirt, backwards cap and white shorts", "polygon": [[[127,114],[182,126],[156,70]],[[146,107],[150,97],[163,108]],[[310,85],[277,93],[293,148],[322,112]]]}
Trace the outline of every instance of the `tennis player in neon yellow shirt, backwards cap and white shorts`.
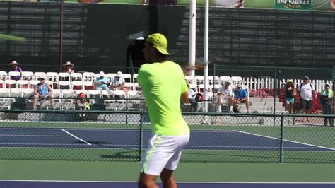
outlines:
{"label": "tennis player in neon yellow shirt, backwards cap and white shorts", "polygon": [[139,187],[158,187],[158,176],[163,187],[177,187],[172,172],[189,141],[189,127],[180,110],[180,102],[188,101],[187,83],[182,68],[167,61],[170,54],[164,35],[149,35],[143,53],[148,63],[139,69],[137,80],[146,98],[153,136],[143,156]]}

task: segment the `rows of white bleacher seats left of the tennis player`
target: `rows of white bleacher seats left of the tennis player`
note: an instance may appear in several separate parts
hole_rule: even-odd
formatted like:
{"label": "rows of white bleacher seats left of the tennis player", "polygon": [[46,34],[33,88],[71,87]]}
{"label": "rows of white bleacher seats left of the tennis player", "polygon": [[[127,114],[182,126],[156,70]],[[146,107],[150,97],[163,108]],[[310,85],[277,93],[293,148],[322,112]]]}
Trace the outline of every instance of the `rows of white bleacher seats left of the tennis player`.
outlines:
{"label": "rows of white bleacher seats left of the tennis player", "polygon": [[[54,108],[59,110],[75,110],[75,100],[79,93],[84,93],[85,98],[94,104],[99,99],[103,99],[107,110],[130,110],[136,105],[140,107],[141,87],[136,81],[136,75],[122,74],[126,83],[127,93],[123,90],[107,91],[95,90],[94,81],[99,74],[93,72],[83,73],[56,73],[56,72],[18,72],[0,71],[0,107],[1,109],[11,109],[11,104],[17,98],[25,98],[27,108],[33,107],[33,92],[35,85],[40,83],[40,77],[47,78],[46,83],[52,87],[54,95]],[[107,74],[112,79],[113,73]],[[18,81],[12,80],[11,76],[20,76]],[[40,108],[49,109],[49,101],[42,101]]]}

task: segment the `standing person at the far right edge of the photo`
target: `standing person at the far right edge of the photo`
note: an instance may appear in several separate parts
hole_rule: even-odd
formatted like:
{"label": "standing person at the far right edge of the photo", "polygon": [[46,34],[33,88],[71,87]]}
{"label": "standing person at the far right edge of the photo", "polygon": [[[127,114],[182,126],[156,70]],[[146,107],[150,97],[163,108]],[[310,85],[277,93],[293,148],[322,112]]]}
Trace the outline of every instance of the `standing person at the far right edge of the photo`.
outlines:
{"label": "standing person at the far right edge of the photo", "polygon": [[[322,105],[322,114],[331,114],[331,105],[334,101],[334,92],[331,90],[329,83],[326,83],[324,90],[322,90],[320,94],[320,104]],[[329,122],[329,126],[334,127],[334,119],[333,118],[324,118],[324,126],[327,126]]]}

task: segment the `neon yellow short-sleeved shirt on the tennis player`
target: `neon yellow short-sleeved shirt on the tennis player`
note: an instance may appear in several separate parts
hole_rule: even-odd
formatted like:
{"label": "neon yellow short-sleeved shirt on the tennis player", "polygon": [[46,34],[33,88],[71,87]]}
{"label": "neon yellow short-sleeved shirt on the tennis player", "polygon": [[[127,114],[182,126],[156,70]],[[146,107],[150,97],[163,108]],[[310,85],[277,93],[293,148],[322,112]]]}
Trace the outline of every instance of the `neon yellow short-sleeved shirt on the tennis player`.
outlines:
{"label": "neon yellow short-sleeved shirt on the tennis player", "polygon": [[143,64],[137,81],[146,98],[153,134],[178,136],[189,132],[180,110],[180,95],[188,89],[178,64]]}

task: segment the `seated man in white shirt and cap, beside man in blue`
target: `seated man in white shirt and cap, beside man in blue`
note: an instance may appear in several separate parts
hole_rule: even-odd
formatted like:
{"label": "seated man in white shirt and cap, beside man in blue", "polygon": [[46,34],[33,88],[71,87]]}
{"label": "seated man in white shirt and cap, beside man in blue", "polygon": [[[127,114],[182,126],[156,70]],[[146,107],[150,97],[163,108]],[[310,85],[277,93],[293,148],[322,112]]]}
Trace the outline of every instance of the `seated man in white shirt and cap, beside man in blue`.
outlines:
{"label": "seated man in white shirt and cap, beside man in blue", "polygon": [[221,105],[222,103],[228,102],[229,112],[233,112],[233,90],[230,87],[230,81],[225,81],[225,85],[221,86],[221,88],[218,89],[218,94],[216,95],[218,97],[218,109],[217,112],[221,113]]}

